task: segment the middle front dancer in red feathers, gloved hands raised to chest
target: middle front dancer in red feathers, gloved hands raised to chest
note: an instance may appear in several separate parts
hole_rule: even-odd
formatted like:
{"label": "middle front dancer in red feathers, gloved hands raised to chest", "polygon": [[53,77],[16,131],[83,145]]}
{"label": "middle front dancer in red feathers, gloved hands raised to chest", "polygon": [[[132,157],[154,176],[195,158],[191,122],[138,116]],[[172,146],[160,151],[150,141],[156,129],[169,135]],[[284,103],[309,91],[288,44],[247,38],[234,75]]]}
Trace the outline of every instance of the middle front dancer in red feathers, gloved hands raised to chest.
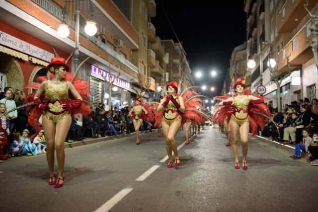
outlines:
{"label": "middle front dancer in red feathers, gloved hands raised to chest", "polygon": [[[197,96],[191,96],[195,92],[188,91],[178,93],[178,84],[175,81],[171,81],[166,84],[167,96],[165,96],[159,105],[154,106],[157,108],[155,127],[159,126],[161,122],[162,131],[165,137],[165,146],[169,157],[167,168],[171,168],[173,164],[172,151],[175,155],[174,166],[179,166],[180,157],[178,155],[177,145],[174,141],[174,136],[179,131],[181,125],[188,120],[195,120],[196,123],[200,123],[201,114],[196,109],[201,105]],[[191,97],[190,97],[191,96]],[[190,98],[189,98],[190,97]],[[184,101],[184,99],[187,99]]]}

